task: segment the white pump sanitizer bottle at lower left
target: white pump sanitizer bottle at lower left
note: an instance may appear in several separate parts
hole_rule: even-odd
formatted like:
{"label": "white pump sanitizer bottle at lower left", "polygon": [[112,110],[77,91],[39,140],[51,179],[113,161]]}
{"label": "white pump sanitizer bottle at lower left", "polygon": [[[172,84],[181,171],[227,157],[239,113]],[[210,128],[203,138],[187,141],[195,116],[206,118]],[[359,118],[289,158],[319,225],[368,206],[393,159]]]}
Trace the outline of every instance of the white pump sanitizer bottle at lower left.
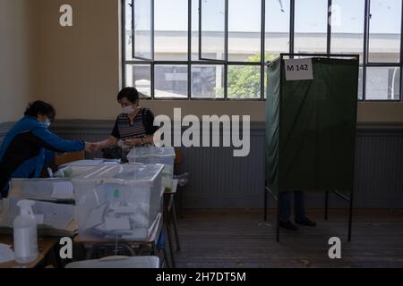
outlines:
{"label": "white pump sanitizer bottle at lower left", "polygon": [[35,202],[28,199],[20,200],[21,214],[14,219],[14,253],[15,261],[26,264],[38,257],[37,221],[32,212]]}

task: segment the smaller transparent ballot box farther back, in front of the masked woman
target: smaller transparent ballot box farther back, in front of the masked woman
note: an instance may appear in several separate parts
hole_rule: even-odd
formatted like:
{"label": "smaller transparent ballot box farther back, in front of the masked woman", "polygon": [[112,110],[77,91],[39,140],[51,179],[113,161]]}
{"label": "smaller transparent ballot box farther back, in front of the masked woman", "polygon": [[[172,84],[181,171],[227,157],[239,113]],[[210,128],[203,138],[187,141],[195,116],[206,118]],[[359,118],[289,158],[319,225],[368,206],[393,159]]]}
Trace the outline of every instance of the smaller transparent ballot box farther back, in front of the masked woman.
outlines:
{"label": "smaller transparent ballot box farther back, in front of the masked woman", "polygon": [[127,156],[129,163],[164,164],[162,185],[172,189],[174,178],[174,147],[135,147]]}

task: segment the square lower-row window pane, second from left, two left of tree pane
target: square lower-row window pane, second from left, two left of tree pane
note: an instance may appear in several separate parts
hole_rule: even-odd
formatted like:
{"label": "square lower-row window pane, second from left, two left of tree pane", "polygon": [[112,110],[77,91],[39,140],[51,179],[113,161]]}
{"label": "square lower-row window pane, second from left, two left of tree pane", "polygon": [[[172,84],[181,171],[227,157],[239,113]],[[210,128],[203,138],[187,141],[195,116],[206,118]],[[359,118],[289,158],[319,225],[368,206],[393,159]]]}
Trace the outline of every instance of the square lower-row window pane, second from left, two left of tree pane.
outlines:
{"label": "square lower-row window pane, second from left, two left of tree pane", "polygon": [[187,98],[187,65],[155,66],[155,97]]}

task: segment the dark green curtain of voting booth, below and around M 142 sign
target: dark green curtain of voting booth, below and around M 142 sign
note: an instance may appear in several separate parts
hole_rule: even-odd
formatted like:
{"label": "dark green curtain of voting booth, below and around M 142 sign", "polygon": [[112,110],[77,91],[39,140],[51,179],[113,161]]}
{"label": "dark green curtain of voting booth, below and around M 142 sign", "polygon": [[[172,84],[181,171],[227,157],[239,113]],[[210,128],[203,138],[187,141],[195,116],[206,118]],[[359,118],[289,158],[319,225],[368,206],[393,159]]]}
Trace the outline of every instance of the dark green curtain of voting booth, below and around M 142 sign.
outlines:
{"label": "dark green curtain of voting booth, below and around M 142 sign", "polygon": [[356,145],[357,59],[313,58],[313,80],[268,67],[267,181],[279,191],[350,190]]}

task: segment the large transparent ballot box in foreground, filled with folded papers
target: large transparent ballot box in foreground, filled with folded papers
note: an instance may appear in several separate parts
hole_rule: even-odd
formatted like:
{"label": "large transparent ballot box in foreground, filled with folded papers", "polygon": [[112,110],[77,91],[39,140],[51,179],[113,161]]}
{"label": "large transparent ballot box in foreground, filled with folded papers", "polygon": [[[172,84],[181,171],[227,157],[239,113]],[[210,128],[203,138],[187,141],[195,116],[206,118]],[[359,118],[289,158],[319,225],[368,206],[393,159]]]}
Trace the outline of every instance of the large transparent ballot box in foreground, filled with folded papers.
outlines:
{"label": "large transparent ballot box in foreground, filled with folded papers", "polygon": [[163,164],[119,164],[73,178],[79,237],[148,238],[162,205],[163,168]]}

